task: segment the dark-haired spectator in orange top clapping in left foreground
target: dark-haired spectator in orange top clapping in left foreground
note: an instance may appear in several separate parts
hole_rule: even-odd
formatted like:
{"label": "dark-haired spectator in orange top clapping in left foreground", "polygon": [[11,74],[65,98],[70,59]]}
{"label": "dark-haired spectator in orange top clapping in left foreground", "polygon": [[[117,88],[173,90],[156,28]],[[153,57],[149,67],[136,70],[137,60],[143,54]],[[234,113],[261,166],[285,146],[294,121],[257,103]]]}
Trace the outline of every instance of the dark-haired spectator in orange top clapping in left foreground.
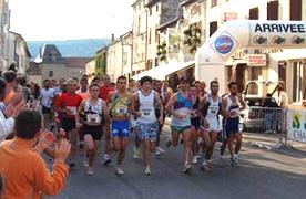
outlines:
{"label": "dark-haired spectator in orange top clapping in left foreground", "polygon": [[[35,143],[43,150],[54,142],[52,133],[41,133],[42,117],[35,111],[23,111],[16,118],[17,138],[2,143],[0,147],[0,172],[6,181],[4,198],[42,198],[57,195],[64,187],[68,167],[64,160],[70,144],[63,139],[55,146],[53,172],[47,168]],[[13,146],[13,147],[12,147]]]}

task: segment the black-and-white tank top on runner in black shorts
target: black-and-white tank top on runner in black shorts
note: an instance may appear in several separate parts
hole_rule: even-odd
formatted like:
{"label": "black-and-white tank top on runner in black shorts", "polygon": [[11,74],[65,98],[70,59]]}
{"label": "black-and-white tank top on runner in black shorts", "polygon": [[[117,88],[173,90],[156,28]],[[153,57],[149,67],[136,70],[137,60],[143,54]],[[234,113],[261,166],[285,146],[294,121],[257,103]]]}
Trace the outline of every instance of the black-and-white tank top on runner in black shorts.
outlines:
{"label": "black-and-white tank top on runner in black shorts", "polygon": [[90,100],[85,101],[85,116],[86,116],[86,124],[89,125],[100,125],[102,122],[102,107],[103,101],[101,98],[98,100],[95,105],[90,104]]}

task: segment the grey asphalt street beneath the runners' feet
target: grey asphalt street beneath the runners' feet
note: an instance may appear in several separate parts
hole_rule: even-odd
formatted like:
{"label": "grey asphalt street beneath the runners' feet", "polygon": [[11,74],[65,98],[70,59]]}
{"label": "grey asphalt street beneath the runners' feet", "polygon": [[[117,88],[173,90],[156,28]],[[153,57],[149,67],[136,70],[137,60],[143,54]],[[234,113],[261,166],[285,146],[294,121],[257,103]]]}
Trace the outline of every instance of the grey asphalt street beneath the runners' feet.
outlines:
{"label": "grey asphalt street beneath the runners' feet", "polygon": [[[167,133],[163,134],[165,142]],[[85,175],[82,155],[78,166],[68,179],[67,188],[57,199],[297,199],[306,195],[306,158],[305,151],[275,151],[253,147],[249,142],[257,136],[245,136],[241,160],[237,167],[215,166],[212,171],[203,172],[200,164],[192,175],[182,174],[182,145],[169,148],[161,159],[153,156],[152,175],[143,175],[143,165],[132,157],[132,142],[125,161],[125,174],[115,175],[113,165],[102,166],[102,153],[95,163],[95,175]],[[263,139],[259,137],[258,140]],[[268,140],[268,139],[267,139]],[[164,144],[162,144],[164,146]],[[220,145],[217,145],[216,149]],[[102,147],[101,147],[102,148]],[[113,158],[114,163],[114,158]]]}

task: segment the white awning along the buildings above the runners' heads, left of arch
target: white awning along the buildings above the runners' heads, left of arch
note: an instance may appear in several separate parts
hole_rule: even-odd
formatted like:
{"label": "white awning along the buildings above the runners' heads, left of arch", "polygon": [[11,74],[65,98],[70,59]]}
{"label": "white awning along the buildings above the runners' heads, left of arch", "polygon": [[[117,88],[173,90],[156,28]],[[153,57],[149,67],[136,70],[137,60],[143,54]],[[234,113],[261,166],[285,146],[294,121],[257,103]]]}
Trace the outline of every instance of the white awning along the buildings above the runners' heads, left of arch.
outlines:
{"label": "white awning along the buildings above the runners' heads, left of arch", "polygon": [[167,75],[175,73],[177,71],[184,70],[190,67],[191,65],[194,64],[194,61],[190,62],[174,62],[170,64],[162,64],[156,67],[153,67],[149,71],[144,71],[140,74],[136,74],[133,76],[133,80],[139,81],[143,76],[151,76],[152,78],[156,80],[165,80]]}

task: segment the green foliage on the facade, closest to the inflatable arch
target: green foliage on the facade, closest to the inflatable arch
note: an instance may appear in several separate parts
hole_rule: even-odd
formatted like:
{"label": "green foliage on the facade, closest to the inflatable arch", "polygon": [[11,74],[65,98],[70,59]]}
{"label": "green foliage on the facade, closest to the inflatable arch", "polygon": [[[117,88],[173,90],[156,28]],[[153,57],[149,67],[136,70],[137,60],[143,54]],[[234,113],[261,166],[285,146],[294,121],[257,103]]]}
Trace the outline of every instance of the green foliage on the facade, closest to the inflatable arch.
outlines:
{"label": "green foliage on the facade, closest to the inflatable arch", "polygon": [[196,49],[201,45],[201,29],[198,27],[197,23],[193,23],[184,31],[184,45],[188,46],[191,54],[195,54]]}

